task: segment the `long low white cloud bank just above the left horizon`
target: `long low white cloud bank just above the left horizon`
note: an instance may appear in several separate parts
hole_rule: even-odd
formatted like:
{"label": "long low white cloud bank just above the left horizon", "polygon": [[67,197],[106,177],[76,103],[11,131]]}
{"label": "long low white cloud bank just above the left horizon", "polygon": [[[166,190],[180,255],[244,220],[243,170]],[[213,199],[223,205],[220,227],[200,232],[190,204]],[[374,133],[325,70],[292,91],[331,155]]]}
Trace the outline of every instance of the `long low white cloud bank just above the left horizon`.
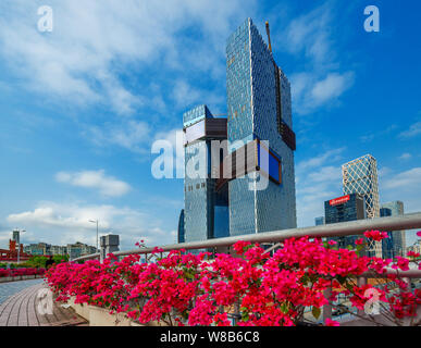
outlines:
{"label": "long low white cloud bank just above the left horizon", "polygon": [[135,243],[145,239],[147,245],[174,243],[174,232],[161,228],[157,219],[131,208],[114,206],[63,204],[41,202],[32,211],[10,214],[10,224],[26,226],[29,231],[24,244],[45,241],[53,245],[66,245],[82,241],[96,245],[96,225],[89,220],[99,220],[100,235],[114,233],[120,235],[121,250],[135,248]]}

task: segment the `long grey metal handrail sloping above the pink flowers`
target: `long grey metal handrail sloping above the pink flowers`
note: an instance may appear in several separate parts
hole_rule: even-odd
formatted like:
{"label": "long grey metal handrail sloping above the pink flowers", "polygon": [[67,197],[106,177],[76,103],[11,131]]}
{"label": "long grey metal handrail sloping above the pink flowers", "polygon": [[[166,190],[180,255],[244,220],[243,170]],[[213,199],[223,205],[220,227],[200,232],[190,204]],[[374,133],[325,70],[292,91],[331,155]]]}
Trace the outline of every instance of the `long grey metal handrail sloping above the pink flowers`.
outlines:
{"label": "long grey metal handrail sloping above the pink flowers", "polygon": [[[320,226],[311,226],[304,228],[290,228],[267,233],[258,233],[250,235],[242,235],[235,237],[208,239],[200,241],[190,241],[183,244],[175,244],[159,247],[162,252],[169,252],[172,250],[193,250],[193,249],[209,249],[218,247],[230,247],[239,240],[250,243],[278,243],[288,238],[301,238],[305,236],[309,237],[342,237],[350,235],[362,235],[366,231],[380,229],[380,231],[403,231],[421,228],[421,212],[404,214],[399,216],[386,216],[375,217],[367,220],[357,220],[350,222],[343,222],[337,224],[327,224]],[[114,252],[115,257],[123,257],[128,254],[148,254],[152,253],[154,248],[139,248],[128,251]],[[94,253],[84,256],[72,261],[84,261],[98,259],[100,253]]]}

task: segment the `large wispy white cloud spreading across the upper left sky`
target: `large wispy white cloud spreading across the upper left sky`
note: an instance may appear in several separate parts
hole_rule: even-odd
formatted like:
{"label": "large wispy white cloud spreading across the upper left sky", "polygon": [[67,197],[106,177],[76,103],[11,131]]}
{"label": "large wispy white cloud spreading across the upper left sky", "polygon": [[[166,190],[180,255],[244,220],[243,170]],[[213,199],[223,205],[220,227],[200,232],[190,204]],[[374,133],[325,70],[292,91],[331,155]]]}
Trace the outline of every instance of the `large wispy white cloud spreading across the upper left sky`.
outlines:
{"label": "large wispy white cloud spreading across the upper left sky", "polygon": [[[213,72],[224,64],[221,37],[244,21],[255,1],[126,0],[122,5],[114,0],[51,0],[54,27],[48,34],[37,30],[38,5],[1,4],[0,54],[23,86],[72,104],[100,102],[132,114],[146,102],[146,86],[128,88],[121,66],[150,71],[166,64],[179,72],[186,66]],[[193,26],[198,37],[188,34]],[[199,51],[201,35],[208,49]]]}

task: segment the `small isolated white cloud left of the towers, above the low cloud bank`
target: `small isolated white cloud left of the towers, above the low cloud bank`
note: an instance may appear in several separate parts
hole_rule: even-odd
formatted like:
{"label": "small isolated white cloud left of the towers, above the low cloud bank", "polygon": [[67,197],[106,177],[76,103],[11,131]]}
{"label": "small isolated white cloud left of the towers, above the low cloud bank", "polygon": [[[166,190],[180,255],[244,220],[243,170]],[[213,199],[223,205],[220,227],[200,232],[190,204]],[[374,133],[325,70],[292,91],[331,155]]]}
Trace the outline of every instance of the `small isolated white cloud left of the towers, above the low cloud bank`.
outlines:
{"label": "small isolated white cloud left of the towers, above the low cloud bank", "polygon": [[66,183],[77,187],[98,189],[101,195],[107,197],[124,196],[131,190],[128,184],[112,176],[107,176],[103,170],[77,173],[60,172],[55,175],[55,179],[59,183]]}

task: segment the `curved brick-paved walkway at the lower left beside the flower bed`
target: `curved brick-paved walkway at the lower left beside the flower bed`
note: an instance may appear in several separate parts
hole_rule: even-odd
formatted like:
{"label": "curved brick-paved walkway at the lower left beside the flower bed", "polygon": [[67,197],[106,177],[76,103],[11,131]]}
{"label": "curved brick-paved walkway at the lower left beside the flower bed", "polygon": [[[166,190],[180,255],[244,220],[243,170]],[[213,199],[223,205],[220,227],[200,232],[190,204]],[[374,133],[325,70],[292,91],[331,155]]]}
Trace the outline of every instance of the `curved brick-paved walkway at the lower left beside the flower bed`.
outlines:
{"label": "curved brick-paved walkway at the lower left beside the flower bed", "polygon": [[86,325],[86,321],[72,309],[55,301],[46,302],[48,297],[42,302],[46,306],[40,306],[42,291],[46,293],[42,279],[0,284],[0,326]]}

